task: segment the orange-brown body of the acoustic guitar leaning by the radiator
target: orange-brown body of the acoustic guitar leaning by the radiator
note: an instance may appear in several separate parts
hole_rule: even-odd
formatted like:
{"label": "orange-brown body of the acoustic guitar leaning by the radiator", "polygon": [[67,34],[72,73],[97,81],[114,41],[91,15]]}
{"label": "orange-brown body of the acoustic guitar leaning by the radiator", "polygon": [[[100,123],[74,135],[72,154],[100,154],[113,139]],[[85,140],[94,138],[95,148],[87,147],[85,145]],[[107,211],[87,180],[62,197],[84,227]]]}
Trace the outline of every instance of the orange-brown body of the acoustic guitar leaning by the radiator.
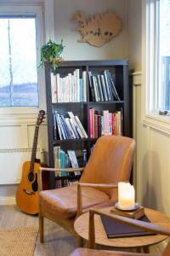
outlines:
{"label": "orange-brown body of the acoustic guitar leaning by the radiator", "polygon": [[27,161],[23,164],[22,167],[22,178],[20,181],[19,188],[16,193],[16,203],[17,206],[23,212],[30,214],[37,214],[38,210],[38,187],[37,187],[37,175],[38,169],[41,167],[41,164],[34,164],[34,173],[35,181],[30,183],[28,180],[28,173],[30,172],[31,162]]}

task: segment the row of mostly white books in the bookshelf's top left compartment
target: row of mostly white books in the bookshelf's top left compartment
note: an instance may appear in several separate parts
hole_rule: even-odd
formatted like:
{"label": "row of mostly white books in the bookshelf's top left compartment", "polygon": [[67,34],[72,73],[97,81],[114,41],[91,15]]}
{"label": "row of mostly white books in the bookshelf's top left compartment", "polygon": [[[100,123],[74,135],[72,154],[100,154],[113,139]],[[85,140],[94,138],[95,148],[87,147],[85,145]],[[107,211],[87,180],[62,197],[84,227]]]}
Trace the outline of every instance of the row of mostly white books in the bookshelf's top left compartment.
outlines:
{"label": "row of mostly white books in the bookshelf's top left compartment", "polygon": [[51,73],[52,102],[87,102],[87,72],[76,69],[65,77]]}

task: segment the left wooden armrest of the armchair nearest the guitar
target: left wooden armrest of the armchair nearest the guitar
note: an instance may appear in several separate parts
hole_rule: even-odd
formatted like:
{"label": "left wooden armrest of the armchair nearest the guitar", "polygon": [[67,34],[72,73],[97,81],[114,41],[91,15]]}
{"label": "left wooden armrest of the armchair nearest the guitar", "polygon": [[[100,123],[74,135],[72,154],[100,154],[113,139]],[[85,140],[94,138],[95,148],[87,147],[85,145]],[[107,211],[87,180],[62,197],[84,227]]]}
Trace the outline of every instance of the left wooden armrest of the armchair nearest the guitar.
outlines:
{"label": "left wooden armrest of the armchair nearest the guitar", "polygon": [[84,167],[78,168],[48,168],[48,167],[40,167],[38,170],[38,191],[42,191],[42,172],[82,172]]}

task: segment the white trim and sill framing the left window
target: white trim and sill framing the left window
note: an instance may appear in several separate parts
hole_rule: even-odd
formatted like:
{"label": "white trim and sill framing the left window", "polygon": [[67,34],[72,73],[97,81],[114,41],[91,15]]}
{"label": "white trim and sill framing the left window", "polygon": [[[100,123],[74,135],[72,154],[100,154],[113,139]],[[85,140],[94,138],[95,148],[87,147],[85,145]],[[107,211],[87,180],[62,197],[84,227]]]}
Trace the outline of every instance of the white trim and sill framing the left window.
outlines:
{"label": "white trim and sill framing the left window", "polygon": [[[44,27],[38,27],[37,36],[40,44],[38,45],[37,61],[40,60],[40,47],[48,39],[54,39],[54,0],[0,0],[0,13],[8,10],[8,13],[36,13],[38,15],[38,26],[43,24]],[[42,10],[40,10],[40,8]],[[19,12],[20,9],[20,12]],[[44,15],[44,19],[42,17]],[[44,20],[44,21],[43,21]],[[45,75],[42,68],[38,69],[38,85],[39,85],[39,107],[14,107],[14,108],[0,108],[0,125],[4,124],[20,124],[30,123],[33,119],[37,119],[39,109],[46,110],[46,92],[45,92]]]}

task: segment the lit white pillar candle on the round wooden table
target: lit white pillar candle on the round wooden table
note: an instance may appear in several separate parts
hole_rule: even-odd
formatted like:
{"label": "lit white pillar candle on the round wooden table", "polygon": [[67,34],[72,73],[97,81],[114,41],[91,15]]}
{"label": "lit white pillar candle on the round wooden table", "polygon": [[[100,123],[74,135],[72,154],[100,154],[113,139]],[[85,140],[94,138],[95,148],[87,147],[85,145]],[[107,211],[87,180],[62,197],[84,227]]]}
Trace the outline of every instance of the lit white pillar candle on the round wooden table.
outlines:
{"label": "lit white pillar candle on the round wooden table", "polygon": [[134,187],[130,183],[118,183],[118,204],[122,209],[131,209],[135,205]]}

